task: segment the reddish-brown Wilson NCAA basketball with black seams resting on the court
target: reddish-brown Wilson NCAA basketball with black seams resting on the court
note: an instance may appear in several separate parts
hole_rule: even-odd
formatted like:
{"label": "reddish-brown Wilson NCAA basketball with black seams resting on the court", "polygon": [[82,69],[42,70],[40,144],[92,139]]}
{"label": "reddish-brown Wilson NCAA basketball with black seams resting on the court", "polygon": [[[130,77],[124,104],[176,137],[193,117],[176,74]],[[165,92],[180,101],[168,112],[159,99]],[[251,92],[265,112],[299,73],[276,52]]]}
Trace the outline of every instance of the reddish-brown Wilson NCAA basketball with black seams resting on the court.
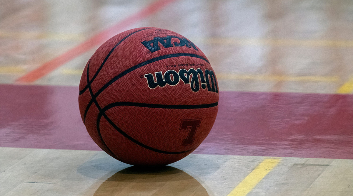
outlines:
{"label": "reddish-brown Wilson NCAA basketball with black seams resting on the court", "polygon": [[131,165],[167,165],[193,152],[217,115],[219,90],[204,53],[178,33],[131,29],[86,64],[79,109],[103,151]]}

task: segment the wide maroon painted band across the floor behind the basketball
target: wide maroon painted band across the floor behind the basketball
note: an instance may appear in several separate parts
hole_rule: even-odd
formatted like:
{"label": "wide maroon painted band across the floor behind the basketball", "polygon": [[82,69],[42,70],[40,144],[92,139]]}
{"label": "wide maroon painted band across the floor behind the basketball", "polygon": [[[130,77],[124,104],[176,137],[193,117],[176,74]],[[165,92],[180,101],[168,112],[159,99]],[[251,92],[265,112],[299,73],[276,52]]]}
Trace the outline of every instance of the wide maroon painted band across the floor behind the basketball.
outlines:
{"label": "wide maroon painted band across the floor behind the basketball", "polygon": [[[78,87],[0,85],[0,147],[100,150]],[[220,92],[211,133],[194,153],[353,159],[353,95]]]}

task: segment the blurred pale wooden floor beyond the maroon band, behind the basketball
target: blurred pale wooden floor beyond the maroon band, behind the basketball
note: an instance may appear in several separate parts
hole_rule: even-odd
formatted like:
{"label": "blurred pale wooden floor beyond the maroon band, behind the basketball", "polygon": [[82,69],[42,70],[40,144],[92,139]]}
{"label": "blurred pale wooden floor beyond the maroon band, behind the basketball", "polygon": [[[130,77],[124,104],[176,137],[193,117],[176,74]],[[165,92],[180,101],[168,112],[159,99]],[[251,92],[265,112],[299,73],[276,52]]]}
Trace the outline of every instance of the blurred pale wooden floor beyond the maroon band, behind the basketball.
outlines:
{"label": "blurred pale wooden floor beyond the maroon band, behind the basketball", "polygon": [[[0,82],[77,86],[99,45],[143,26],[194,42],[215,69],[220,90],[353,91],[351,0],[2,0]],[[106,30],[42,77],[18,81]]]}

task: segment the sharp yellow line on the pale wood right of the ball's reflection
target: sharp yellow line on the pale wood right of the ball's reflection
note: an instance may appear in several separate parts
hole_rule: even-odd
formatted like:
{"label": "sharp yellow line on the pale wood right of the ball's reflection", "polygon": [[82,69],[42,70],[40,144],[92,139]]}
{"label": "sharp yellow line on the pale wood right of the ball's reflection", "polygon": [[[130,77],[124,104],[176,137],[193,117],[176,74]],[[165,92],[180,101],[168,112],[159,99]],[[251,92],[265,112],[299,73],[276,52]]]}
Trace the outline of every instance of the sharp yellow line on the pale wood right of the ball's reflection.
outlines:
{"label": "sharp yellow line on the pale wood right of the ball's reflection", "polygon": [[235,187],[228,196],[247,195],[262,178],[264,178],[278,163],[280,159],[265,159],[246,178]]}

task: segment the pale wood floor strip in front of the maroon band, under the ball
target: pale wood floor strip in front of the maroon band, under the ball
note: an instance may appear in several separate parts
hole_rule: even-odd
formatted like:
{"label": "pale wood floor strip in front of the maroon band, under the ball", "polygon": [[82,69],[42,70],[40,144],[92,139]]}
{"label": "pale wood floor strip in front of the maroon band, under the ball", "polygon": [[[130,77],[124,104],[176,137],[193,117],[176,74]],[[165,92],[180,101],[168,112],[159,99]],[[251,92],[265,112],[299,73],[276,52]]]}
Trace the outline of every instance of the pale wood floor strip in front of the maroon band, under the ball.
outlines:
{"label": "pale wood floor strip in front of the maroon band, under the ball", "polygon": [[[191,154],[155,170],[103,151],[0,148],[0,195],[227,195],[266,157]],[[248,195],[353,192],[353,160],[279,158]]]}

